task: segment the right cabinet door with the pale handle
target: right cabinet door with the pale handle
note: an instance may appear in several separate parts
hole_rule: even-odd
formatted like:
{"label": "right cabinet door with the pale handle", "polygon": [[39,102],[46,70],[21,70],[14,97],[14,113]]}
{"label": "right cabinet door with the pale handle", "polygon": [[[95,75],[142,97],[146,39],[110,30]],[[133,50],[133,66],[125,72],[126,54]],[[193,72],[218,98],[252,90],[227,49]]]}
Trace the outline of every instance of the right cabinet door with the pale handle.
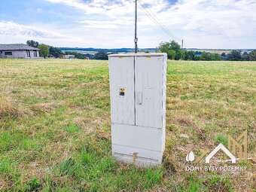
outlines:
{"label": "right cabinet door with the pale handle", "polygon": [[136,125],[162,128],[163,56],[135,57]]}

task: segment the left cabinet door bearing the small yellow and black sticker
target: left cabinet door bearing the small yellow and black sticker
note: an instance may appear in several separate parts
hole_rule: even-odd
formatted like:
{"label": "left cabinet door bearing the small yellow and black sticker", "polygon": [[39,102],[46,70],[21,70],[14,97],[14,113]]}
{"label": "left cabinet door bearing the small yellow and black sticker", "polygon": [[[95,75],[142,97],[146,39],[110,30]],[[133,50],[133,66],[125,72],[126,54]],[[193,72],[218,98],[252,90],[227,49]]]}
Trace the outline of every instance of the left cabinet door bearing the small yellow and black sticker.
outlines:
{"label": "left cabinet door bearing the small yellow and black sticker", "polygon": [[134,57],[109,57],[111,123],[135,125]]}

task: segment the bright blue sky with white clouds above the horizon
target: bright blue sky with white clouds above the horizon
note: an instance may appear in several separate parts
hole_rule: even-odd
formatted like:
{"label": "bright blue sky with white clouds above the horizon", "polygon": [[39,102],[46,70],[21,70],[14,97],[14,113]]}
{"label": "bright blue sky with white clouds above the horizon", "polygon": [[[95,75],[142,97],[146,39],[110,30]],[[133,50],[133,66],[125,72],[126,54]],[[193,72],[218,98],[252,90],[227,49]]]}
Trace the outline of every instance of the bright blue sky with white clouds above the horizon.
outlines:
{"label": "bright blue sky with white clouds above the horizon", "polygon": [[[256,48],[256,0],[138,1],[139,48],[182,39],[185,48]],[[133,0],[1,0],[0,44],[134,47],[134,7]]]}

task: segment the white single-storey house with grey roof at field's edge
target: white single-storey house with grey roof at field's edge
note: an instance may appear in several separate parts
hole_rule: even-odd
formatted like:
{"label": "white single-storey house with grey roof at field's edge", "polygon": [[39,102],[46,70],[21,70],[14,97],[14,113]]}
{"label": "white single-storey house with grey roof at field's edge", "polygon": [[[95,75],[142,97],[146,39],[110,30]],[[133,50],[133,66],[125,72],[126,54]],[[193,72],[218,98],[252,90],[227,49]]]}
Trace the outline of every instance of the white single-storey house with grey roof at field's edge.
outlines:
{"label": "white single-storey house with grey roof at field's edge", "polygon": [[0,44],[0,58],[39,58],[39,49],[26,44]]}

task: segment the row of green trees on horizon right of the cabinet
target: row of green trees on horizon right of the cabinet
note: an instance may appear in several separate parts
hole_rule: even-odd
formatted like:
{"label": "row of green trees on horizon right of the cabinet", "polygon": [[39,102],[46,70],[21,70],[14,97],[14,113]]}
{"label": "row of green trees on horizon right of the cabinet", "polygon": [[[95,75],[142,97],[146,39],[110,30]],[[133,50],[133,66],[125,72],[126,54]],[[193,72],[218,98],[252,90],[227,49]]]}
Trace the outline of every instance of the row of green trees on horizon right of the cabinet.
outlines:
{"label": "row of green trees on horizon right of the cabinet", "polygon": [[256,50],[242,53],[241,50],[231,50],[230,53],[207,53],[205,51],[182,50],[176,41],[161,42],[157,50],[167,53],[168,59],[203,60],[203,61],[256,61]]}

